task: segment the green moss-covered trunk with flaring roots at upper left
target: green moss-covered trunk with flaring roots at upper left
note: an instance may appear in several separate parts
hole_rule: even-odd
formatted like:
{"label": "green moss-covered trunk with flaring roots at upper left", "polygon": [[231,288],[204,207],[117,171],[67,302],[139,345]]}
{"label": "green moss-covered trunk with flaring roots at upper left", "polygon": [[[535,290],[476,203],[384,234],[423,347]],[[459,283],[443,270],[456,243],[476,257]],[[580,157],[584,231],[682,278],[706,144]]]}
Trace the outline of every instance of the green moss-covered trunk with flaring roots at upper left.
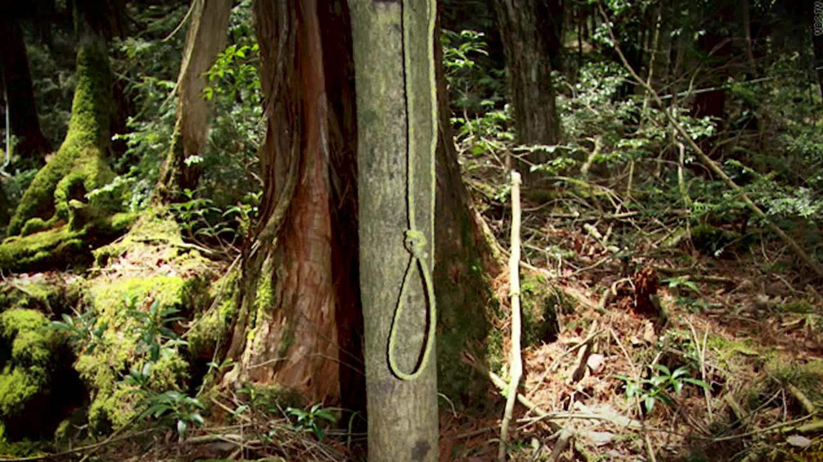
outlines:
{"label": "green moss-covered trunk with flaring roots at upper left", "polygon": [[74,206],[81,206],[87,192],[114,178],[105,161],[114,102],[106,40],[101,30],[105,18],[100,11],[104,7],[91,0],[75,3],[77,87],[72,118],[63,145],[23,194],[9,224],[10,235],[63,224],[80,226],[73,222],[75,215],[69,202],[77,201]]}

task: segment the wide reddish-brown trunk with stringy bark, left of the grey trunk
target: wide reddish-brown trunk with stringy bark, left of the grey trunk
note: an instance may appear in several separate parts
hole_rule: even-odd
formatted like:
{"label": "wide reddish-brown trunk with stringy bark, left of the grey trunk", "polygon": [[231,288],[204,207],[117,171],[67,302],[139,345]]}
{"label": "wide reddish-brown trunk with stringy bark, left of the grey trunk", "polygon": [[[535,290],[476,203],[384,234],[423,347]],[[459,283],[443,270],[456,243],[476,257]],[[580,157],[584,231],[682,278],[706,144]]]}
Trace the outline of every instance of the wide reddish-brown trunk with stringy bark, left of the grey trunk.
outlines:
{"label": "wide reddish-brown trunk with stringy bark, left of the grey trunk", "polygon": [[243,380],[339,402],[342,390],[357,388],[350,367],[361,370],[346,6],[258,0],[253,8],[267,116],[265,185],[228,354],[240,358],[235,372]]}

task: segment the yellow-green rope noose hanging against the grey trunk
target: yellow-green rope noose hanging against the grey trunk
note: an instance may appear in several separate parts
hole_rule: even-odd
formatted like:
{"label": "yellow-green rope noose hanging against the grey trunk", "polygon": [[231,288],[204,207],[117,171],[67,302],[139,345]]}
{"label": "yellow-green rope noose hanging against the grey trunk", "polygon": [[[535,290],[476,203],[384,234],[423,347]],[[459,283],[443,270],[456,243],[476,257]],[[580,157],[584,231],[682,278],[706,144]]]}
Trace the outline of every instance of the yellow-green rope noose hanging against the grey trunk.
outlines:
{"label": "yellow-green rope noose hanging against the grey trunk", "polygon": [[[417,152],[415,140],[415,124],[412,122],[412,114],[415,113],[416,101],[415,94],[412,91],[412,58],[411,58],[411,39],[409,38],[409,25],[411,24],[412,9],[409,7],[409,2],[412,0],[403,0],[402,3],[402,30],[403,30],[403,56],[404,56],[404,74],[406,77],[406,127],[407,127],[407,141],[406,141],[406,204],[408,229],[405,233],[403,244],[409,252],[409,263],[406,266],[406,274],[403,276],[403,281],[400,286],[400,296],[398,304],[394,308],[394,317],[392,320],[392,328],[388,333],[388,367],[392,373],[401,380],[414,380],[421,375],[429,363],[431,350],[435,343],[435,327],[437,324],[437,309],[435,307],[435,289],[431,280],[431,272],[429,266],[426,264],[425,247],[428,244],[425,238],[425,233],[416,226],[416,210],[414,206],[414,159],[413,156]],[[428,155],[430,156],[430,175],[431,175],[431,191],[430,191],[430,223],[434,221],[435,216],[435,150],[437,149],[437,84],[435,81],[435,17],[437,10],[435,7],[436,0],[425,0],[426,9],[429,21],[428,34],[426,38],[426,48],[428,49],[427,67],[429,73],[429,97],[431,105],[431,138]],[[406,299],[406,292],[409,283],[412,280],[416,268],[420,268],[423,279],[423,287],[425,289],[425,296],[428,300],[429,307],[429,329],[426,332],[425,345],[423,347],[423,357],[419,365],[412,370],[412,372],[402,372],[398,367],[397,358],[394,356],[394,347],[397,344],[397,330],[400,316],[404,308],[404,301]]]}

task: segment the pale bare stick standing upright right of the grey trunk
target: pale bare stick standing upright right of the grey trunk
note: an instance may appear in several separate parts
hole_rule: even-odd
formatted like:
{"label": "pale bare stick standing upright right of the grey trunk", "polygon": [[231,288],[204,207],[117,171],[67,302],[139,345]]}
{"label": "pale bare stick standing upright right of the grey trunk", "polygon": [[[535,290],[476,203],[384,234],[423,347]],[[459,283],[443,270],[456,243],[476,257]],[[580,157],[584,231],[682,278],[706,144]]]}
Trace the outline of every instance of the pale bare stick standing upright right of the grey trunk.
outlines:
{"label": "pale bare stick standing upright right of the grey trunk", "polygon": [[506,409],[503,414],[503,423],[500,424],[500,446],[497,449],[497,460],[506,460],[506,441],[509,437],[509,421],[514,410],[514,400],[517,393],[520,376],[523,375],[523,358],[520,357],[520,173],[512,171],[512,251],[509,256],[509,288],[511,291],[512,310],[512,340],[511,340],[511,367],[509,380],[509,395],[506,397]]}

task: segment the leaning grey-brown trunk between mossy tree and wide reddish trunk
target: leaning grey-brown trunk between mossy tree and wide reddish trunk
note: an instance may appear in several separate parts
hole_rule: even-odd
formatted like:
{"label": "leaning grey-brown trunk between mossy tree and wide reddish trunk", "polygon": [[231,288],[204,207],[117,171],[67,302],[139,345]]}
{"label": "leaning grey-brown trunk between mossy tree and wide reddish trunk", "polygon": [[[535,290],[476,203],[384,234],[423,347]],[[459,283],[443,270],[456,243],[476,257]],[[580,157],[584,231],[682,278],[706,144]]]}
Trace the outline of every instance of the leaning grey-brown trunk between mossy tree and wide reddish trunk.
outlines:
{"label": "leaning grey-brown trunk between mossy tree and wide reddish trunk", "polygon": [[177,77],[177,122],[169,154],[160,171],[155,198],[168,202],[184,189],[197,187],[200,165],[186,163],[193,155],[202,155],[208,139],[209,103],[202,96],[207,72],[217,54],[226,47],[231,2],[228,0],[193,0]]}

